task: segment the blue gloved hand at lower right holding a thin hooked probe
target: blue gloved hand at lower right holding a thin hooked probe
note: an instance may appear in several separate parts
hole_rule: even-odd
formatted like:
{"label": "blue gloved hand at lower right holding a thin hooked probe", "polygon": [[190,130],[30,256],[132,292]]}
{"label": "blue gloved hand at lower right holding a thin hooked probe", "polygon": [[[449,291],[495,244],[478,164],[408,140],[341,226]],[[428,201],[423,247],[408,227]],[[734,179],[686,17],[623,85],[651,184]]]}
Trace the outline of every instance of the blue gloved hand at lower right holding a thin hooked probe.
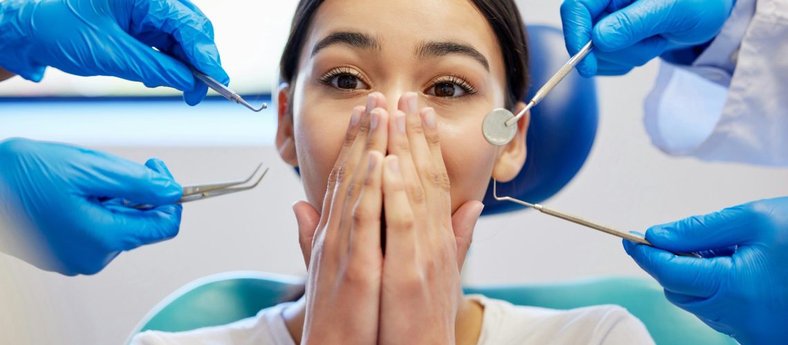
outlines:
{"label": "blue gloved hand at lower right holding a thin hooked probe", "polygon": [[658,248],[624,240],[671,303],[743,344],[788,343],[788,197],[653,226]]}

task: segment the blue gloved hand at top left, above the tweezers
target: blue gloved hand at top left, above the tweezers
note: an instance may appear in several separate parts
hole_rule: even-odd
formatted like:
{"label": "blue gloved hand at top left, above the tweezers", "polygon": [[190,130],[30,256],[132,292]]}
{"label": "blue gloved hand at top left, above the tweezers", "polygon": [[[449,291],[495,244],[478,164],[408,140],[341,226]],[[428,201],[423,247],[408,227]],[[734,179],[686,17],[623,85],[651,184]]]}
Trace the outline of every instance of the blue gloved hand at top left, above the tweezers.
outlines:
{"label": "blue gloved hand at top left, above the tweezers", "polygon": [[112,75],[182,90],[189,105],[208,89],[188,65],[229,83],[214,28],[188,0],[5,0],[0,52],[0,67],[24,79],[38,82],[46,66]]}

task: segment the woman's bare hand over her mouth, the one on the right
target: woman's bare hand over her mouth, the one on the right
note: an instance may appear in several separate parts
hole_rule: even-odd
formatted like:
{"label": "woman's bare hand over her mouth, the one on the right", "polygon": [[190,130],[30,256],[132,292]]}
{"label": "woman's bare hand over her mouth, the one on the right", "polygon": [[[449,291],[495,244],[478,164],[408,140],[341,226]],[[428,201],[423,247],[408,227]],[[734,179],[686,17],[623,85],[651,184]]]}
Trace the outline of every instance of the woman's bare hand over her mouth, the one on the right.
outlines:
{"label": "woman's bare hand over her mouth, the one on the right", "polygon": [[459,271],[481,209],[469,201],[452,216],[437,116],[404,94],[388,126],[383,169],[386,222],[378,343],[455,343],[462,302]]}

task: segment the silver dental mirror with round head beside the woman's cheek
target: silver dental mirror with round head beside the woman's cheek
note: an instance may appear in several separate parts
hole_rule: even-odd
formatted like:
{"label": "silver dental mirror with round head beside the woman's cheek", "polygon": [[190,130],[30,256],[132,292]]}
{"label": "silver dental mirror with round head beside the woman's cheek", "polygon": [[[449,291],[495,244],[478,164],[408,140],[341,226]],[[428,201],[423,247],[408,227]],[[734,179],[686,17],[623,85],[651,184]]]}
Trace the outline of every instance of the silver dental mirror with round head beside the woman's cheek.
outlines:
{"label": "silver dental mirror with round head beside the woman's cheek", "polygon": [[550,91],[558,86],[586,55],[591,53],[591,50],[593,50],[593,42],[588,42],[583,46],[582,50],[574,54],[574,57],[571,57],[569,61],[567,61],[567,63],[545,83],[545,86],[542,86],[541,89],[533,95],[533,98],[528,102],[526,108],[518,112],[517,116],[504,108],[497,108],[489,112],[489,114],[485,116],[484,122],[481,124],[481,133],[484,135],[485,140],[496,146],[507,145],[511,139],[515,138],[515,134],[517,133],[517,126],[515,125],[517,121],[521,119],[522,116],[525,116],[530,108],[533,108],[545,99]]}

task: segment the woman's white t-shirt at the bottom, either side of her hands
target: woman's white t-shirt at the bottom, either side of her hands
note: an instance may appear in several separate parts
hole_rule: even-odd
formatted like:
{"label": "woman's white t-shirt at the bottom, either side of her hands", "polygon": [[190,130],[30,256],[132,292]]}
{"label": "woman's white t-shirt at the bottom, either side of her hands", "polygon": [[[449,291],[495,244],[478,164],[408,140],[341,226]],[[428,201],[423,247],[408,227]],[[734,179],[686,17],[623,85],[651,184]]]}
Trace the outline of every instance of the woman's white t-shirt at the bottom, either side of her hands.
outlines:
{"label": "woman's white t-shirt at the bottom, either side of her hands", "polygon": [[[654,343],[645,325],[621,306],[555,310],[514,306],[483,295],[467,297],[484,306],[479,345]],[[282,317],[282,311],[291,304],[281,303],[260,310],[254,317],[228,325],[198,328],[188,332],[142,332],[132,339],[132,345],[295,345]]]}

